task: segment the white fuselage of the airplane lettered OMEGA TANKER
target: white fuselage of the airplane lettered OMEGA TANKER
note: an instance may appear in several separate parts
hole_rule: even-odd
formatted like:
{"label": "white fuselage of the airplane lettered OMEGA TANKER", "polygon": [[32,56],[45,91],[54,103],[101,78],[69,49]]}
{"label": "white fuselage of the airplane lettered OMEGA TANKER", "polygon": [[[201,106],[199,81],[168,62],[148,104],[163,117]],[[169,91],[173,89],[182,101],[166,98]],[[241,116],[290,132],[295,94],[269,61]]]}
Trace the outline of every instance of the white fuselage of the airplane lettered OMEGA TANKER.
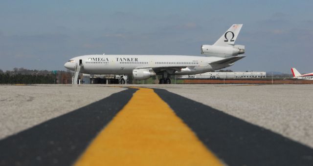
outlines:
{"label": "white fuselage of the airplane lettered OMEGA TANKER", "polygon": [[[82,63],[85,74],[132,74],[136,68],[173,67],[177,75],[199,74],[228,67],[232,64],[210,65],[210,62],[222,60],[220,57],[185,55],[84,55],[72,58],[65,66],[75,70],[75,63]],[[177,67],[179,66],[179,67]],[[167,71],[170,71],[167,69]],[[157,73],[157,72],[156,72]]]}

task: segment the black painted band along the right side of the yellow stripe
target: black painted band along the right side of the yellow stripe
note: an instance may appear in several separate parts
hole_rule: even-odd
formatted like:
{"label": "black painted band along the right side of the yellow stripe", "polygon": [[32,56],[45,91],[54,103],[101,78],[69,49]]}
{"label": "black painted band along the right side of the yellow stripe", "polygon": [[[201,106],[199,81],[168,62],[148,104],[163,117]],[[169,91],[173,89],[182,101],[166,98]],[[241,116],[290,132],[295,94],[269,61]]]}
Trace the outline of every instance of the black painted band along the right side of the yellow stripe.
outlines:
{"label": "black painted band along the right side of the yellow stripe", "polygon": [[155,92],[229,166],[313,166],[313,149],[164,89]]}

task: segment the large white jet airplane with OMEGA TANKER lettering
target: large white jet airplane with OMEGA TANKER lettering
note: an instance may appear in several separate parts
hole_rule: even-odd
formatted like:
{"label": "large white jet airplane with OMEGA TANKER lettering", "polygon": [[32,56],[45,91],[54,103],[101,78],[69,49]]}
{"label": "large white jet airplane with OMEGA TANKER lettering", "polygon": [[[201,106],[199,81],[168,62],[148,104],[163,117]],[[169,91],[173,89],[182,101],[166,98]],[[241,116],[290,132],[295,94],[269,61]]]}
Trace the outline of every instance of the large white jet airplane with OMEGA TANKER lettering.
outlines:
{"label": "large white jet airplane with OMEGA TANKER lettering", "polygon": [[84,55],[64,66],[85,74],[133,74],[135,80],[161,75],[159,83],[171,83],[170,75],[200,74],[222,69],[246,57],[244,45],[235,45],[242,24],[232,25],[213,45],[202,45],[201,54],[186,55]]}

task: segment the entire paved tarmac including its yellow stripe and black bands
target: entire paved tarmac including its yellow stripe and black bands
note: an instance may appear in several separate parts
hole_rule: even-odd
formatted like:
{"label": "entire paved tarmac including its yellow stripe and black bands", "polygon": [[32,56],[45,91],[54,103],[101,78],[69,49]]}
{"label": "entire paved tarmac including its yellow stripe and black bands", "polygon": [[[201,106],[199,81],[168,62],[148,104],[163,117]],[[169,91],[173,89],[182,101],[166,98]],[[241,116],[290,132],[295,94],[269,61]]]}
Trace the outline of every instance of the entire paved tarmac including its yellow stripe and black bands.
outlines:
{"label": "entire paved tarmac including its yellow stripe and black bands", "polygon": [[0,93],[1,166],[313,165],[312,85],[0,85]]}

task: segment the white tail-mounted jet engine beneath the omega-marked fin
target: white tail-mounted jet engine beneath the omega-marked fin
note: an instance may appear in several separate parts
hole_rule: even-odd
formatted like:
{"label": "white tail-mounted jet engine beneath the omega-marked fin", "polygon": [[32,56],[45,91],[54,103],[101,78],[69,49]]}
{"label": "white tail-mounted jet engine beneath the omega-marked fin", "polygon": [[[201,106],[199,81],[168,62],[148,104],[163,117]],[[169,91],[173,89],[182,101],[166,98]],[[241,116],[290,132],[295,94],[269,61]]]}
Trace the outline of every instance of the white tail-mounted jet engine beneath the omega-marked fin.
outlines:
{"label": "white tail-mounted jet engine beneath the omega-marked fin", "polygon": [[214,57],[231,57],[245,53],[244,45],[234,46],[216,46],[216,45],[201,45],[201,54]]}

